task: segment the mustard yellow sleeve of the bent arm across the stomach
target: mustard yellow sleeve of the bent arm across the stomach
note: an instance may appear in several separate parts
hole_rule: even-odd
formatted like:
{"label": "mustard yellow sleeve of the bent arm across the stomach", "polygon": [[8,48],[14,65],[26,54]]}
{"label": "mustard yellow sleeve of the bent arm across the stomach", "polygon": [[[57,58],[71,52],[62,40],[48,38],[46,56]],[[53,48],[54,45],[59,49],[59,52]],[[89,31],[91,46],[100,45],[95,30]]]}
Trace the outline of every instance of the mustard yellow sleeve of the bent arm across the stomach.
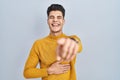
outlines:
{"label": "mustard yellow sleeve of the bent arm across the stomach", "polygon": [[24,77],[25,78],[39,78],[48,76],[47,68],[36,68],[39,63],[39,51],[37,47],[37,41],[33,44],[29,57],[25,63],[24,67]]}

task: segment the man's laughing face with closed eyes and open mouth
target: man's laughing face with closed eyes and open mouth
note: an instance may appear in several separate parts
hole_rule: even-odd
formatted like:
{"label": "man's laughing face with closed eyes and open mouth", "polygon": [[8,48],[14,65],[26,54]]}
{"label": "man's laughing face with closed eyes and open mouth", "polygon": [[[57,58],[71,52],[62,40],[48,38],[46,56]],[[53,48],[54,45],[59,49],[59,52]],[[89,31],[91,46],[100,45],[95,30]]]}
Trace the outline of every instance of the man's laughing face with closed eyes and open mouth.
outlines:
{"label": "man's laughing face with closed eyes and open mouth", "polygon": [[48,25],[51,33],[62,32],[64,18],[61,11],[51,11],[48,16]]}

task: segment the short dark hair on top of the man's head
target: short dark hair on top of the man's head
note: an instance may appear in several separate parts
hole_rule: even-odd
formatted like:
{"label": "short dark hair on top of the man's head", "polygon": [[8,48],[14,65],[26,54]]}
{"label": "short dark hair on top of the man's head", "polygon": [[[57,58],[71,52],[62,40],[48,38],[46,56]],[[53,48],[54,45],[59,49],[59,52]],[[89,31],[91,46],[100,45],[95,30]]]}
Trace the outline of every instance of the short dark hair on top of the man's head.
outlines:
{"label": "short dark hair on top of the man's head", "polygon": [[62,15],[63,15],[63,18],[64,18],[64,16],[65,16],[65,9],[64,9],[64,7],[62,6],[62,5],[60,5],[60,4],[51,4],[49,7],[48,7],[48,9],[47,9],[47,16],[49,16],[49,13],[51,12],[51,11],[61,11],[62,12]]}

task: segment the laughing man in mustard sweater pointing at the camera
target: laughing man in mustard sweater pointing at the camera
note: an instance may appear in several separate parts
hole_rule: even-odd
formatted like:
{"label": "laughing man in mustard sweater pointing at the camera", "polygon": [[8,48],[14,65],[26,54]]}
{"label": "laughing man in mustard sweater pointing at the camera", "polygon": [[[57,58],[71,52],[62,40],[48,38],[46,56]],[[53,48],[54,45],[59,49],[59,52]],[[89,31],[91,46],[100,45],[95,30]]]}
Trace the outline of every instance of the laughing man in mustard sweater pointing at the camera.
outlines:
{"label": "laughing man in mustard sweater pointing at the camera", "polygon": [[[42,80],[76,80],[76,54],[82,50],[80,39],[67,36],[62,28],[65,23],[65,9],[52,4],[47,9],[50,33],[33,44],[24,68],[25,78]],[[40,64],[40,69],[36,68]]]}

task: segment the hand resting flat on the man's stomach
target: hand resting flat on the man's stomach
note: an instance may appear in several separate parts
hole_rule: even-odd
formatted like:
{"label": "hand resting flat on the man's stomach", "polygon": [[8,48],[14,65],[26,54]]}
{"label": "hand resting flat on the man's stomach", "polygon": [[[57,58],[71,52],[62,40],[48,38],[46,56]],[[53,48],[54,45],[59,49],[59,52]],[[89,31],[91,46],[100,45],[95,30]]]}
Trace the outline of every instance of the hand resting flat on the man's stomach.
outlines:
{"label": "hand resting flat on the man's stomach", "polygon": [[48,74],[63,74],[70,70],[70,64],[61,64],[61,61],[53,63],[48,68]]}

